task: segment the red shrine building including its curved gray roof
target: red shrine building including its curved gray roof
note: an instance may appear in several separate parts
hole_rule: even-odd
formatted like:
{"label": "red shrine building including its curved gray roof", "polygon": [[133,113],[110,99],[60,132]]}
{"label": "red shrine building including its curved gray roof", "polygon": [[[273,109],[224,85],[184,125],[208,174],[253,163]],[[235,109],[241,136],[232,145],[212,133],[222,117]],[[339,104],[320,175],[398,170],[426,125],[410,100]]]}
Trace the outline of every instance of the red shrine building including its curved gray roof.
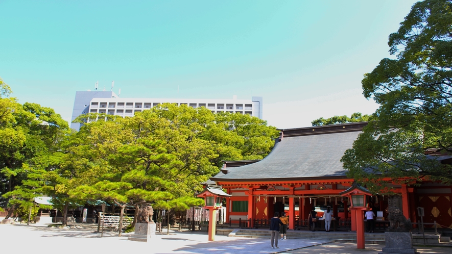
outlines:
{"label": "red shrine building including its curved gray roof", "polygon": [[[274,212],[286,211],[289,228],[300,229],[306,226],[311,210],[321,216],[330,206],[340,225],[355,230],[354,215],[348,210],[350,200],[340,195],[352,186],[353,179],[346,176],[340,159],[366,125],[358,122],[280,130],[271,153],[263,160],[225,161],[221,172],[210,181],[231,195],[226,198],[227,223],[241,220],[246,221],[246,227],[257,227]],[[449,164],[451,158],[441,160]],[[368,200],[375,214],[380,212],[380,220],[385,221],[391,205],[416,222],[416,208],[423,207],[424,222],[452,227],[452,186],[423,181],[416,187],[393,187],[398,193],[395,198],[375,195]]]}

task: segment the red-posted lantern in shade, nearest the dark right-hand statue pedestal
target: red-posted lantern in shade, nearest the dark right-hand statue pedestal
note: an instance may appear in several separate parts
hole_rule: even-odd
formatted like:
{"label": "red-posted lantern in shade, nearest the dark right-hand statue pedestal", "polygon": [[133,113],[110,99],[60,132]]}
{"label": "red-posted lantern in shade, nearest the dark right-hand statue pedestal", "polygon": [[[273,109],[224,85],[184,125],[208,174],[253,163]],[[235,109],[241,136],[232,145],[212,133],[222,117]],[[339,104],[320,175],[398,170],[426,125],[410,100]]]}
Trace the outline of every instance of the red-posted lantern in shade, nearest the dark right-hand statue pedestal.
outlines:
{"label": "red-posted lantern in shade, nearest the dark right-hand statue pedestal", "polygon": [[356,182],[347,190],[339,193],[341,196],[350,198],[351,220],[356,225],[356,245],[359,249],[364,249],[364,216],[363,211],[366,210],[367,197],[372,193],[357,184]]}

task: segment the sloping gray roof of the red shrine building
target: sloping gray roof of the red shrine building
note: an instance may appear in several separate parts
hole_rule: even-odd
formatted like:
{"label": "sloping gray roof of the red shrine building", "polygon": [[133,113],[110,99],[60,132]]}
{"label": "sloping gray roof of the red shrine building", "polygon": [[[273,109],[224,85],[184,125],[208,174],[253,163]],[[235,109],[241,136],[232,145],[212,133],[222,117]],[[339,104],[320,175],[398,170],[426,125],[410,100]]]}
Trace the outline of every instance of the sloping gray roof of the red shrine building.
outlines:
{"label": "sloping gray roof of the red shrine building", "polygon": [[[314,130],[313,130],[314,131]],[[340,162],[346,149],[361,130],[283,137],[263,160],[241,167],[227,168],[226,174],[210,177],[219,182],[272,181],[312,179],[312,177],[345,178]]]}

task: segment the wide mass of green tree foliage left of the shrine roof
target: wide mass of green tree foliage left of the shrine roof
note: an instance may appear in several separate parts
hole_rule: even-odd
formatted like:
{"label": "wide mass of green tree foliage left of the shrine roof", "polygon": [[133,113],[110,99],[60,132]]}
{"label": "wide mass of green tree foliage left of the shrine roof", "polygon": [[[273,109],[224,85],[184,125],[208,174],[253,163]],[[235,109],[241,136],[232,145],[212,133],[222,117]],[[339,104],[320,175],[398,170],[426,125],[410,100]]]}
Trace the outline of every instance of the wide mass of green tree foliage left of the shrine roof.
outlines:
{"label": "wide mass of green tree foliage left of the shrine roof", "polygon": [[4,204],[33,211],[33,197],[51,196],[63,224],[69,208],[89,200],[114,203],[121,214],[146,203],[168,212],[201,205],[194,193],[221,160],[261,159],[278,134],[249,115],[173,104],[126,118],[87,114],[77,119],[81,130],[69,133],[52,109],[18,104],[4,83],[1,91]]}

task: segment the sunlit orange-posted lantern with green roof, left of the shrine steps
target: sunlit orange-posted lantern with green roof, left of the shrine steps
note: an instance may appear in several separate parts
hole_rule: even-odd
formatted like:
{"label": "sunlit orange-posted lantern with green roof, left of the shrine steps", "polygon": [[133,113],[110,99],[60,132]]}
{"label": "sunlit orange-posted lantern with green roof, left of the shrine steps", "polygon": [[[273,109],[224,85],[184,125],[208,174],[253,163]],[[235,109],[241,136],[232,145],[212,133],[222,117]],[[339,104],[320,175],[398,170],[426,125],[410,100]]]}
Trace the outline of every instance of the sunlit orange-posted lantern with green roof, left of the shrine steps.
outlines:
{"label": "sunlit orange-posted lantern with green roof, left of the shrine steps", "polygon": [[208,184],[196,196],[205,200],[203,208],[209,210],[209,241],[215,241],[217,210],[222,207],[223,197],[230,197],[231,195],[224,192],[221,186]]}

